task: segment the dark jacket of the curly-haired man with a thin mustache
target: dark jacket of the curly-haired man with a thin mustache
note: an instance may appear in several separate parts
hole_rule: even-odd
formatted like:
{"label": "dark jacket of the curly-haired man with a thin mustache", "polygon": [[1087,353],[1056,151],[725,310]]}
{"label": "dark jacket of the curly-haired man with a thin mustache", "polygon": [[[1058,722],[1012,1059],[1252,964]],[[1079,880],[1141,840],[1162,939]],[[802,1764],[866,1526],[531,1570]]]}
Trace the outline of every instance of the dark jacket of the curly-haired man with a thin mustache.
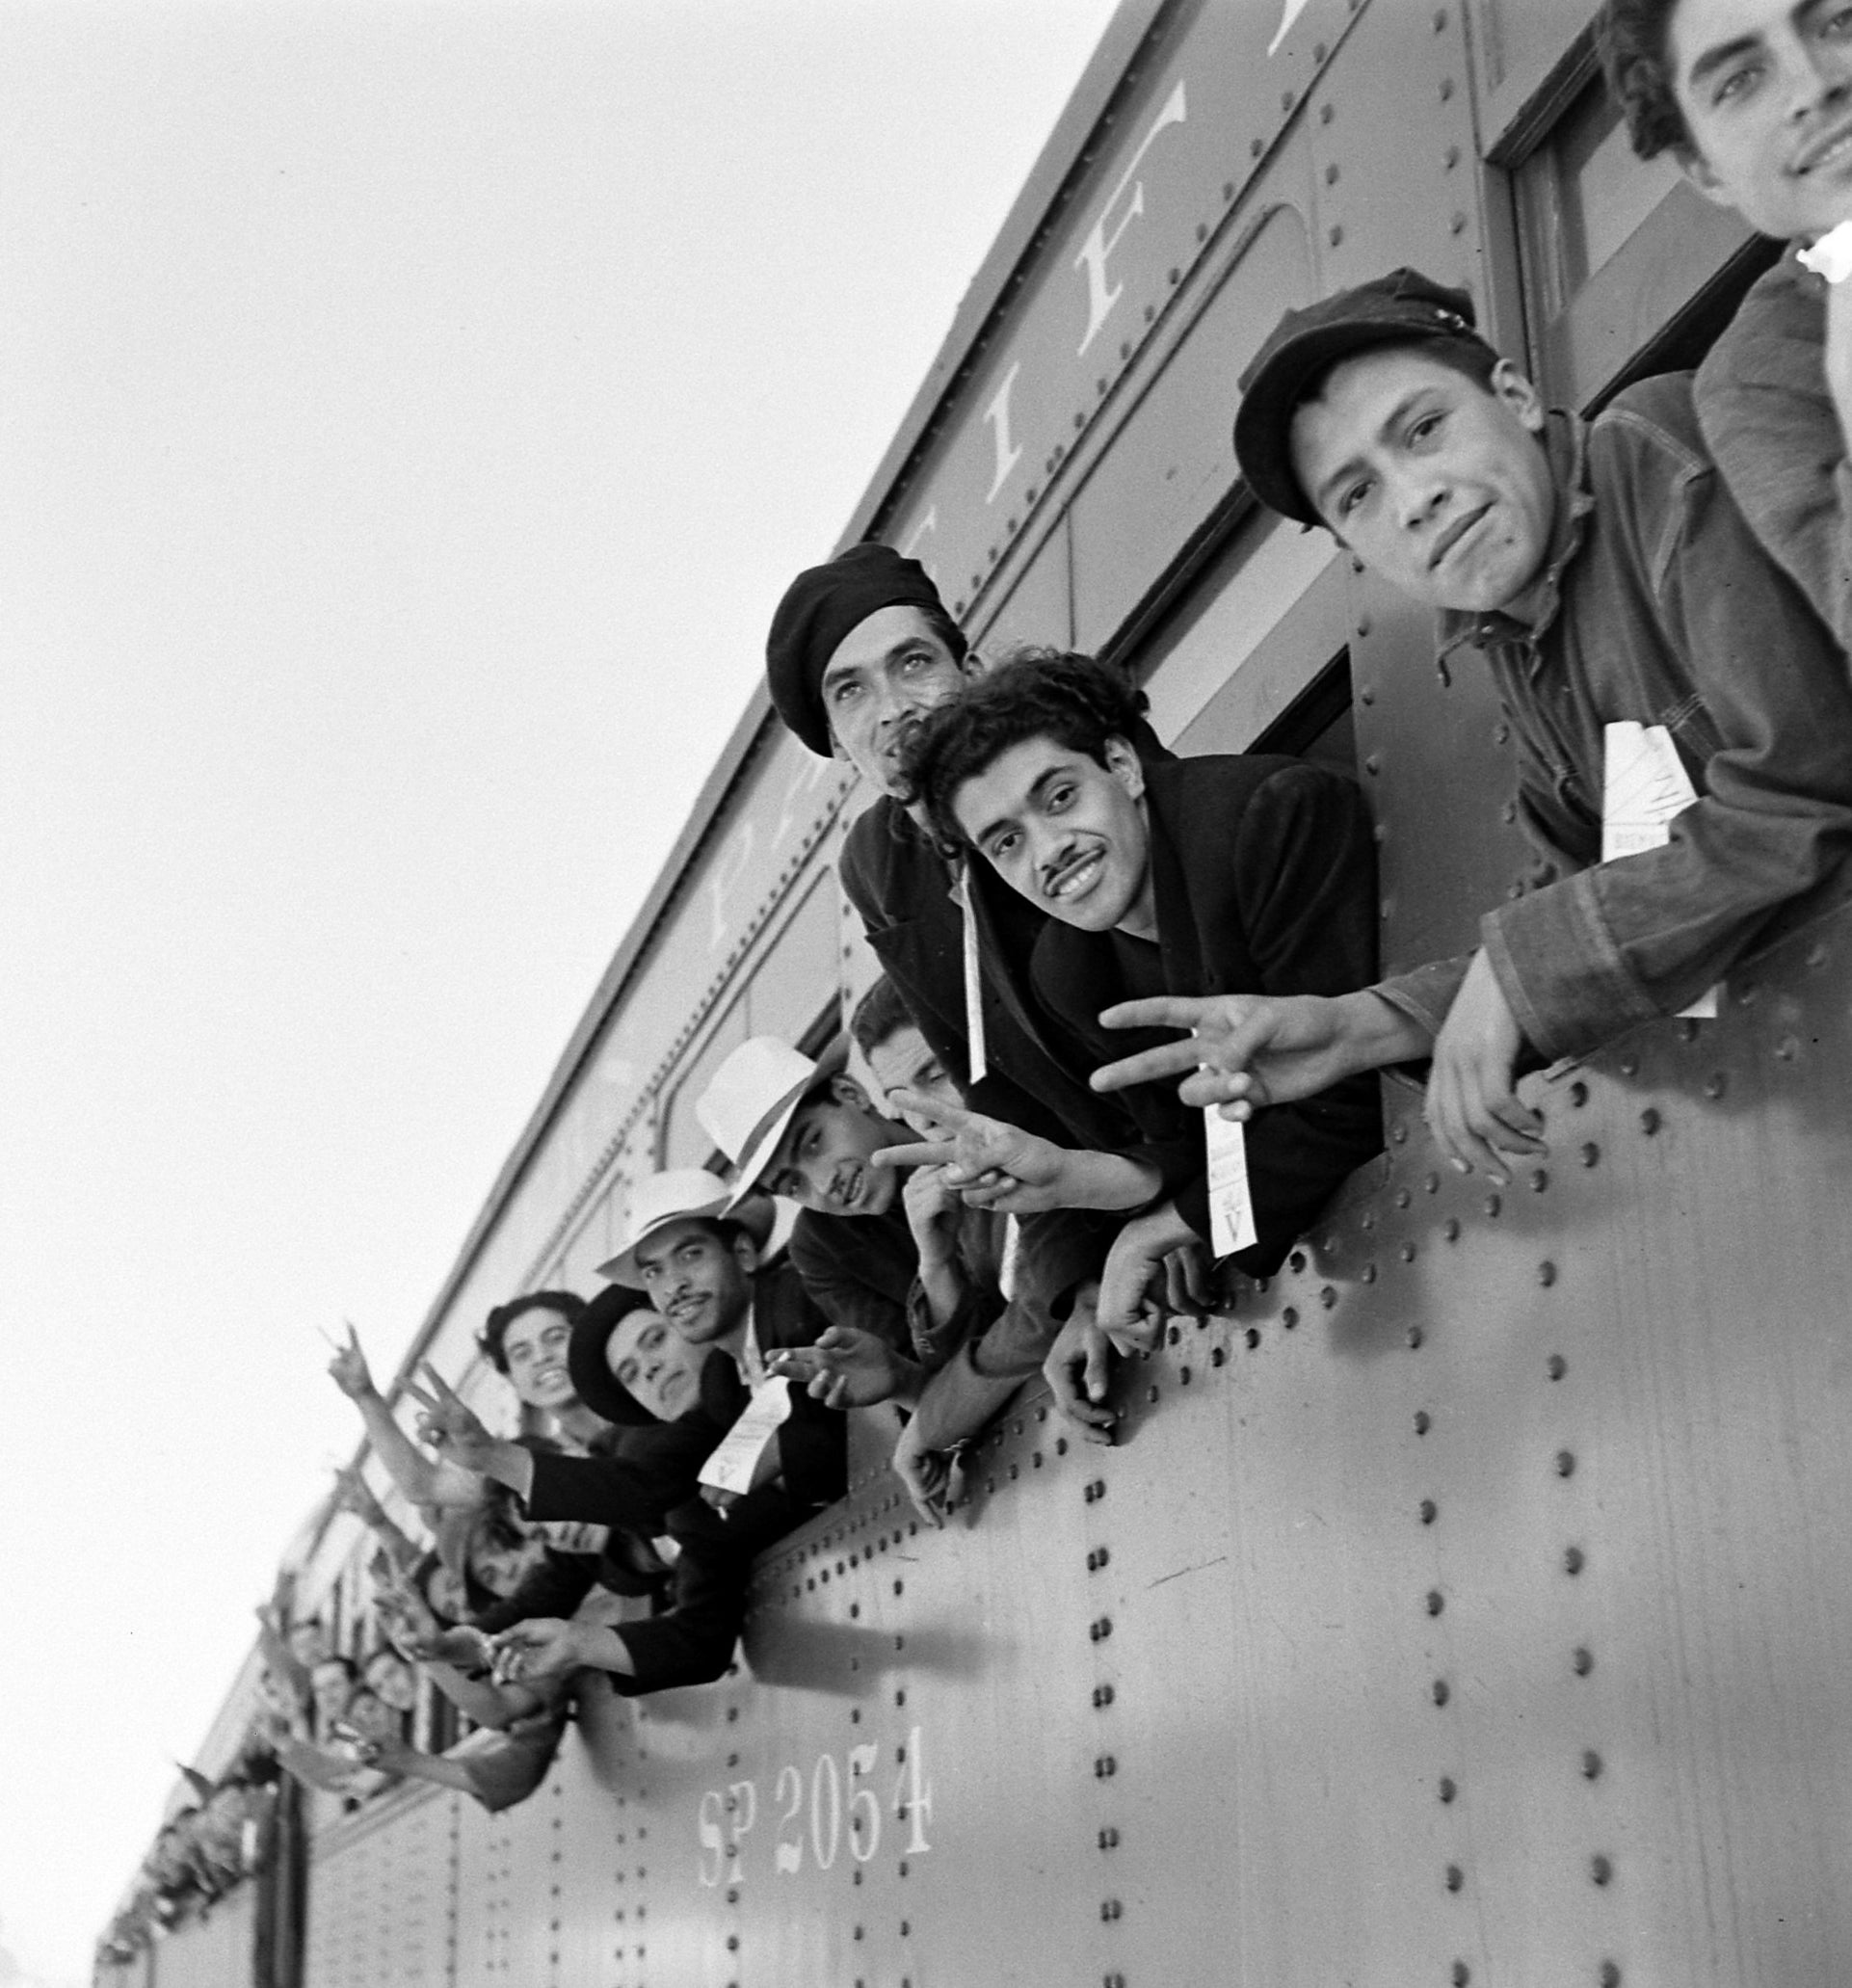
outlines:
{"label": "dark jacket of the curly-haired man with a thin mustache", "polygon": [[[1147,767],[1158,964],[1170,994],[1347,994],[1375,974],[1375,843],[1355,785],[1304,759],[1214,753]],[[1049,920],[1035,944],[1035,992],[1089,1068],[1174,1040],[1105,1030],[1127,998],[1113,932]],[[1176,1083],[1125,1093],[1137,1157],[1153,1161],[1182,1219],[1208,1237],[1202,1115]],[[1266,1276],[1333,1189],[1381,1151],[1373,1076],[1272,1105],[1248,1125],[1248,1181],[1260,1241],[1234,1262]],[[1127,1151],[1127,1147],[1121,1147]]]}

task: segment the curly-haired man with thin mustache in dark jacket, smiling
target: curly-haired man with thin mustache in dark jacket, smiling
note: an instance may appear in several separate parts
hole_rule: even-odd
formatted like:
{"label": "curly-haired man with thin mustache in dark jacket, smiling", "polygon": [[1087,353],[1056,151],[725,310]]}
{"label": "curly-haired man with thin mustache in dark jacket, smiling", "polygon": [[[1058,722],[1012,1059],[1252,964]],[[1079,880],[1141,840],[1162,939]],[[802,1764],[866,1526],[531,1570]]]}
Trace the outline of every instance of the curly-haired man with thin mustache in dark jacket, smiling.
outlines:
{"label": "curly-haired man with thin mustache in dark jacket, smiling", "polygon": [[[1125,1000],[1343,994],[1375,974],[1375,851],[1355,785],[1264,753],[1145,765],[1129,744],[1141,710],[1117,670],[1025,652],[942,706],[906,753],[940,833],[1047,914],[1033,986],[1077,1068],[1123,1050],[1099,1014]],[[1123,1199],[1091,1205],[1147,1209],[1107,1258],[1109,1334],[1168,1250],[1210,1237],[1200,1117],[1166,1085],[1133,1087],[1127,1103],[1141,1143],[1083,1155],[1125,1177]],[[1379,1147],[1371,1079],[1264,1113],[1248,1139],[1258,1241],[1238,1268],[1276,1268]]]}

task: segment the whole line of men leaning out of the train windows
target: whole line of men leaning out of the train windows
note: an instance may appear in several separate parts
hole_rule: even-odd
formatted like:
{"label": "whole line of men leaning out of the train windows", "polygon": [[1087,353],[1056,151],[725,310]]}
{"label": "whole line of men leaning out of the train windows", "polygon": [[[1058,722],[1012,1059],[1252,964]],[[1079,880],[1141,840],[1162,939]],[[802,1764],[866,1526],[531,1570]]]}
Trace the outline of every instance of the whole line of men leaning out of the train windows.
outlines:
{"label": "whole line of men leaning out of the train windows", "polygon": [[[1381,976],[1353,781],[1178,757],[1095,658],[978,656],[890,547],[801,573],[767,680],[878,795],[841,859],[884,968],[847,1030],[868,1081],[847,1044],[725,1058],[695,1105],[725,1171],[632,1183],[594,1296],[489,1314],[521,1433],[429,1368],[407,1431],[350,1330],[330,1372],[427,1537],[346,1477],[380,1539],[372,1614],[342,1654],[286,1594],[264,1612],[268,1712],[163,1831],[153,1918],[248,1849],[227,1787],[415,1777],[503,1807],[588,1672],[620,1694],[723,1676],[755,1557],[845,1491],[843,1409],[898,1409],[922,1523],[1037,1374],[1111,1441],[1115,1358],[1230,1270],[1276,1270],[1379,1151],[1375,1072],[1423,1074],[1445,1159],[1504,1179],[1544,1143],[1524,1074],[1701,1002],[1830,883],[1852,851],[1852,282],[1830,260],[1852,6],[1608,0],[1600,44],[1635,151],[1792,245],[1699,370],[1594,421],[1546,410],[1466,290],[1401,268],[1286,312],[1234,417],[1258,499],[1492,672],[1542,881],[1472,952]],[[775,1199],[801,1213],[771,1252]],[[413,1718],[419,1674],[461,1743]]]}

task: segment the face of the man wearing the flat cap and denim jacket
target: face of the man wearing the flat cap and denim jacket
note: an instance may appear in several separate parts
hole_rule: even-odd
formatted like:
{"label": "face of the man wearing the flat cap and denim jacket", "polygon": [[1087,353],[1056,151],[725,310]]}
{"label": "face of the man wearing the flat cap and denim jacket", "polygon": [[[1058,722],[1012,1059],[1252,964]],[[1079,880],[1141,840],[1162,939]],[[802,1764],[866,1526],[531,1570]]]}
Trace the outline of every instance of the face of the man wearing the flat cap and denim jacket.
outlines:
{"label": "face of the man wearing the flat cap and denim jacket", "polygon": [[1292,465],[1317,515],[1411,600],[1522,604],[1556,521],[1536,388],[1500,360],[1488,388],[1419,346],[1333,366],[1292,419]]}

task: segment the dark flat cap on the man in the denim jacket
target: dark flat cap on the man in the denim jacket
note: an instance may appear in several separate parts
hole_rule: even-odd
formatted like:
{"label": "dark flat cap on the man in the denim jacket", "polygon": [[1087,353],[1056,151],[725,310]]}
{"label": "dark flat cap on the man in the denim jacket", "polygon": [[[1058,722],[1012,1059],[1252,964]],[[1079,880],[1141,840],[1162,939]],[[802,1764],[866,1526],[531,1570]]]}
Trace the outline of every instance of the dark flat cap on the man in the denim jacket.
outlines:
{"label": "dark flat cap on the man in the denim jacket", "polygon": [[1240,380],[1234,455],[1254,495],[1302,525],[1321,525],[1292,467],[1300,402],[1341,358],[1369,346],[1443,340],[1490,352],[1474,322],[1466,290],[1449,290],[1419,268],[1393,268],[1375,282],[1288,310]]}

